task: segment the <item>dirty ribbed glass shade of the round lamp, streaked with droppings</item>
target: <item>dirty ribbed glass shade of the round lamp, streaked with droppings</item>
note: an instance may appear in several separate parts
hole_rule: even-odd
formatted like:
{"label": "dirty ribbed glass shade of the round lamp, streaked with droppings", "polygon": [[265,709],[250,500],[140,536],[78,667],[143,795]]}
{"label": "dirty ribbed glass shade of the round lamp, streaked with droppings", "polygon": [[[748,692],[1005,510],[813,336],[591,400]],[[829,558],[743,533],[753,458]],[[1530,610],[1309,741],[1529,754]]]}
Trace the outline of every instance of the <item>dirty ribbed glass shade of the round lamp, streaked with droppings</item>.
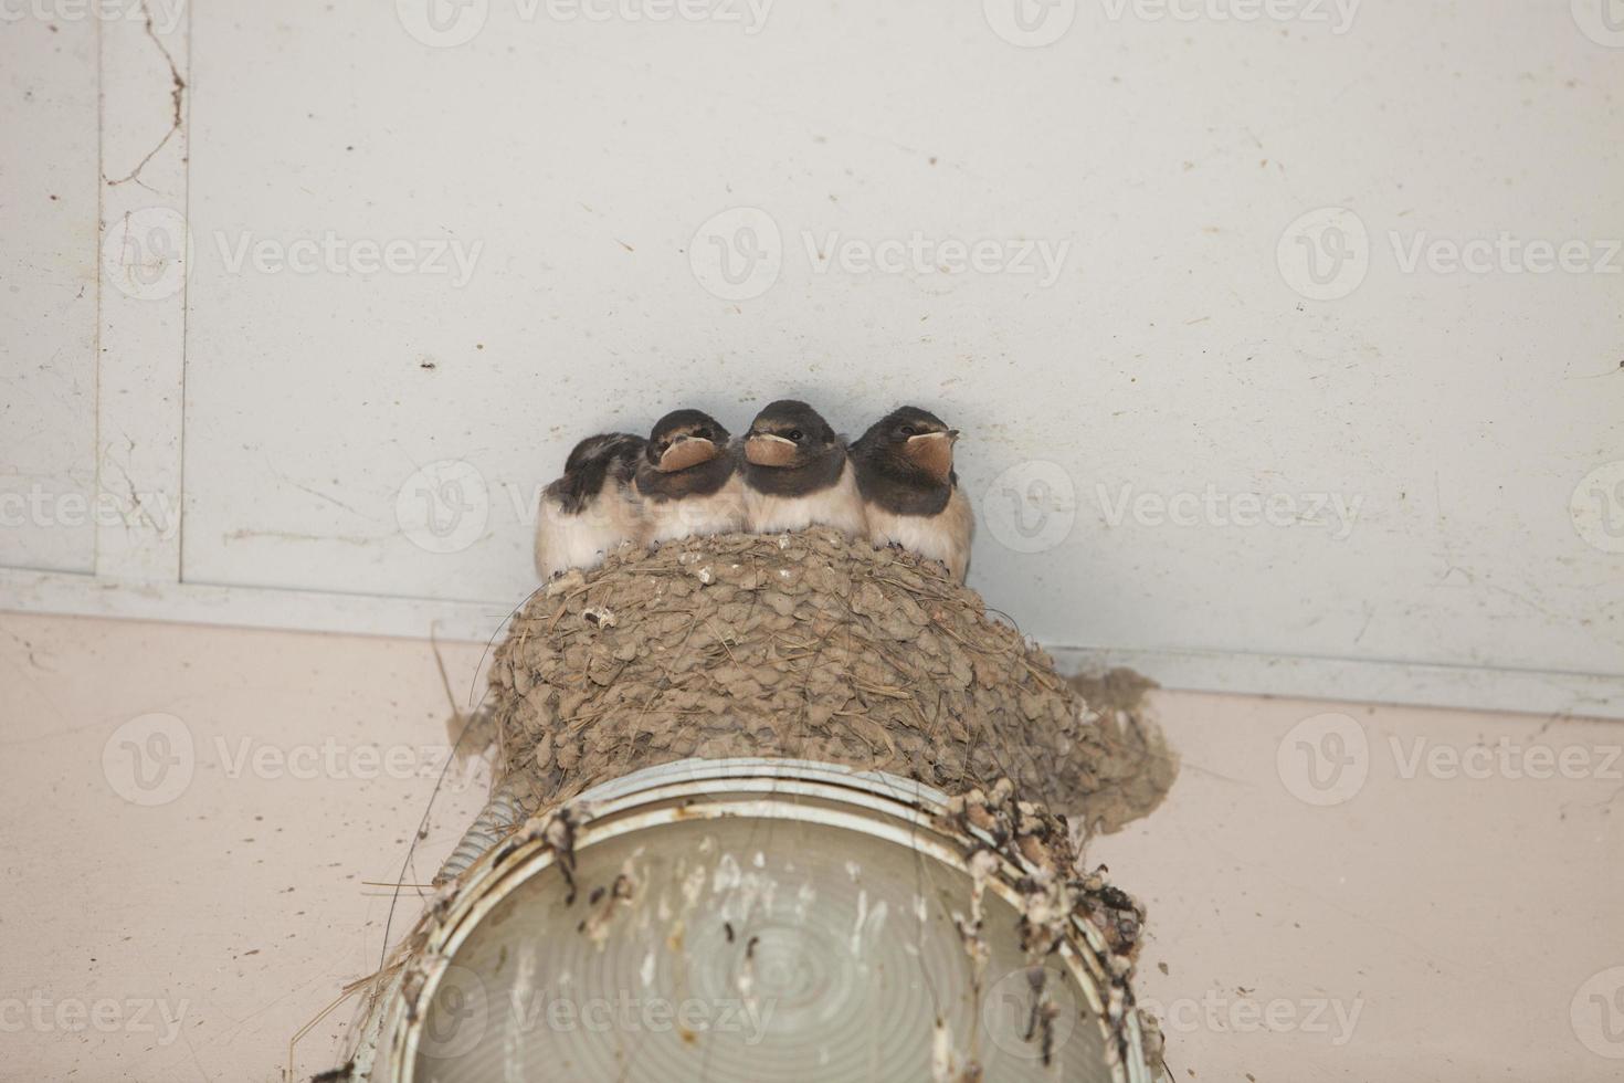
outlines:
{"label": "dirty ribbed glass shade of the round lamp, streaked with droppings", "polygon": [[632,820],[577,849],[573,887],[559,864],[507,887],[435,979],[409,1077],[1114,1078],[1080,971],[1028,966],[1005,898],[981,893],[966,940],[961,867],[861,810],[778,804]]}

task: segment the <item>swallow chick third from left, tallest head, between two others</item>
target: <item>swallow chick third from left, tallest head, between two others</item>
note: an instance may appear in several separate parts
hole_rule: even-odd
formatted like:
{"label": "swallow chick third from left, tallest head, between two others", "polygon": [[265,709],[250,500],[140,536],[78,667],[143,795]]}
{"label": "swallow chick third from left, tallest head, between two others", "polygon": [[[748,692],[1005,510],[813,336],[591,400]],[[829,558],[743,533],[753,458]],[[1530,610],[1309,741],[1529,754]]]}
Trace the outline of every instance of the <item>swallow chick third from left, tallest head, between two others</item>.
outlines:
{"label": "swallow chick third from left, tallest head, between two others", "polygon": [[866,533],[846,442],[806,403],[770,403],[744,435],[744,511],[750,531],[781,534],[833,526]]}

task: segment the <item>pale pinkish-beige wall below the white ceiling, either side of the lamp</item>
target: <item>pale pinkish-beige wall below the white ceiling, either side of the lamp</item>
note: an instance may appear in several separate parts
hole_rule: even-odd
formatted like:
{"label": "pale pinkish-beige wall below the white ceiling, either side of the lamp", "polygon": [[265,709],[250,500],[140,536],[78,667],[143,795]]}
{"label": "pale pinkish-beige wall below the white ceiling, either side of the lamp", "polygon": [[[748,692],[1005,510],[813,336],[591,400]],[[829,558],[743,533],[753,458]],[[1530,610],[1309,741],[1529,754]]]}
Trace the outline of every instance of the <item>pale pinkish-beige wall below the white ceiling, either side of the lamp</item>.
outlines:
{"label": "pale pinkish-beige wall below the white ceiling, either side of the lamp", "polygon": [[[460,695],[477,658],[447,651]],[[1138,990],[1177,1080],[1618,1078],[1624,726],[1156,706],[1182,776],[1093,857],[1150,908]],[[292,1033],[377,963],[388,893],[364,882],[400,872],[443,718],[419,641],[0,614],[5,1075],[278,1078]],[[1574,778],[1470,752],[1450,776],[1502,740],[1566,750]],[[453,771],[416,882],[479,802]],[[408,893],[396,932],[416,913]],[[300,1073],[349,1018],[312,1031]]]}

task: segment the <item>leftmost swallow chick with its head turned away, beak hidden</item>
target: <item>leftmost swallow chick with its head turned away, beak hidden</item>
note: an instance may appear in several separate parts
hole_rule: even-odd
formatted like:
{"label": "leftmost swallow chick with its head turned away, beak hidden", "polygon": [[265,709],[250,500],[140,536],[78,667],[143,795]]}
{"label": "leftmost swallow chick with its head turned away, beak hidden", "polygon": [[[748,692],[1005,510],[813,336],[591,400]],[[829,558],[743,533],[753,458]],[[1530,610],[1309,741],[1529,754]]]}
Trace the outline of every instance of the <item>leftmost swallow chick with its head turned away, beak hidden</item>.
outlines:
{"label": "leftmost swallow chick with its head turned away, beak hidden", "polygon": [[643,437],[607,432],[575,445],[559,477],[541,492],[536,573],[546,583],[570,568],[596,568],[604,554],[643,541],[633,476]]}

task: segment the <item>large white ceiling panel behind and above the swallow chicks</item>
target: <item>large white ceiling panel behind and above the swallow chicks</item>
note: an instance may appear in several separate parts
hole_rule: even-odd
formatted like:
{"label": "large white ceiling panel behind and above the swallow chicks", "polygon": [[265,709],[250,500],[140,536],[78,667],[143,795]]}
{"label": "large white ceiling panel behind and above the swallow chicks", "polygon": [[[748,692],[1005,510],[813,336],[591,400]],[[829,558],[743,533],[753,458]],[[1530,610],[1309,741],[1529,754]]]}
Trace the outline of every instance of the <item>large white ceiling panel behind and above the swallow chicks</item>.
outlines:
{"label": "large white ceiling panel behind and above the swallow chicks", "polygon": [[[1418,237],[1606,257],[1624,52],[1522,0],[1369,0],[1346,32],[1117,8],[1062,0],[1026,49],[994,0],[783,3],[754,34],[494,0],[434,47],[377,5],[197,5],[182,578],[513,602],[580,437],[784,395],[856,434],[914,401],[966,434],[971,583],[1046,643],[1624,674],[1624,555],[1570,510],[1624,460],[1624,274],[1403,270]],[[1324,291],[1294,270],[1317,208],[1369,237],[1356,289],[1358,261]],[[765,292],[708,263],[739,224]],[[477,255],[466,284],[232,268],[330,235]],[[916,235],[926,266],[853,270]],[[978,240],[1064,263],[929,270]],[[28,469],[83,469],[54,455]],[[487,494],[453,552],[398,518],[440,461]],[[1608,479],[1580,505],[1624,529]],[[1112,523],[1143,494],[1195,521]],[[1254,498],[1291,523],[1228,521]]]}

